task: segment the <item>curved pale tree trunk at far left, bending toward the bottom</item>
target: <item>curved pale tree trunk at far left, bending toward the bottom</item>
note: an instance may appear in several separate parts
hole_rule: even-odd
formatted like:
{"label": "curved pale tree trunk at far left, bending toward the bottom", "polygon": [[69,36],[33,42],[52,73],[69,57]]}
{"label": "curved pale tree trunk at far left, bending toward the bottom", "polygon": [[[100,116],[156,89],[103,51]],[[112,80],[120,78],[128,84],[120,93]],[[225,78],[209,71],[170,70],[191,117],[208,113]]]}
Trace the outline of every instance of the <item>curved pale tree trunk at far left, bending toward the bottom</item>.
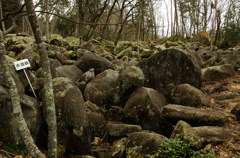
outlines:
{"label": "curved pale tree trunk at far left, bending toward the bottom", "polygon": [[27,127],[27,123],[23,117],[21,104],[20,104],[20,97],[17,91],[17,86],[10,71],[8,70],[8,66],[7,66],[8,64],[6,62],[4,51],[5,51],[5,46],[3,43],[3,33],[0,30],[0,62],[2,64],[5,81],[9,85],[9,94],[12,101],[13,116],[14,116],[14,119],[17,121],[19,134],[21,135],[22,140],[24,141],[31,156],[46,158],[46,156],[35,145],[34,140],[31,136],[31,133]]}

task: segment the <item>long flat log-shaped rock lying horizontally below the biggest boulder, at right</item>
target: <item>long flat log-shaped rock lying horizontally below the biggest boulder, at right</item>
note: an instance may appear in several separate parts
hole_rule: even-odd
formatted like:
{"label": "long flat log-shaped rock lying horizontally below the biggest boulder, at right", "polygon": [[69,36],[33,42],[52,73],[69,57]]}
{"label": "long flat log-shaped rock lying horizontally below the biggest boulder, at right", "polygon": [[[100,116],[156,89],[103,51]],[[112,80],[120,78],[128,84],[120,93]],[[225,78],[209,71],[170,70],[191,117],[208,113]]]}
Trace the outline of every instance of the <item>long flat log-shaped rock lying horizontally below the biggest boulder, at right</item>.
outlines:
{"label": "long flat log-shaped rock lying horizontally below the biggest boulder, at right", "polygon": [[172,123],[184,120],[192,125],[223,125],[227,121],[227,116],[218,111],[174,104],[164,106],[162,115]]}

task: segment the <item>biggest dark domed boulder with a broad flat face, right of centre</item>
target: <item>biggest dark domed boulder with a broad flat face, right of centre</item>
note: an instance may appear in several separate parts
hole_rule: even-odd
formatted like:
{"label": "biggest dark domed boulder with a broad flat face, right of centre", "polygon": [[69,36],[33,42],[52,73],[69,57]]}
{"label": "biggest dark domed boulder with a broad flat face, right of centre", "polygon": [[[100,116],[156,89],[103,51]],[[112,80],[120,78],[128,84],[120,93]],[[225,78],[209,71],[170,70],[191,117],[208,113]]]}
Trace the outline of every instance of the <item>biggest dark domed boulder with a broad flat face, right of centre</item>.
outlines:
{"label": "biggest dark domed boulder with a broad flat face, right of centre", "polygon": [[139,63],[145,75],[145,86],[166,95],[174,86],[188,83],[201,86],[201,70],[190,52],[166,49]]}

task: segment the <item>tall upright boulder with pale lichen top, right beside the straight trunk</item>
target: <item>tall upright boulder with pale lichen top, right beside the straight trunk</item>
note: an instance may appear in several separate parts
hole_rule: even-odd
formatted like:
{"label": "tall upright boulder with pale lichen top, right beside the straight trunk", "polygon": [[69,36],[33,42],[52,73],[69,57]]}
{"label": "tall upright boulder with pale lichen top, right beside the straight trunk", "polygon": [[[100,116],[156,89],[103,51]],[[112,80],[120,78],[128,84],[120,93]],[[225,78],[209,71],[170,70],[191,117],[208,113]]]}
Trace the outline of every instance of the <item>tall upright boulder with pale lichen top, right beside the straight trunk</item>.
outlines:
{"label": "tall upright boulder with pale lichen top, right beside the straight trunk", "polygon": [[88,115],[81,91],[67,78],[53,79],[58,124],[58,143],[66,152],[90,153]]}

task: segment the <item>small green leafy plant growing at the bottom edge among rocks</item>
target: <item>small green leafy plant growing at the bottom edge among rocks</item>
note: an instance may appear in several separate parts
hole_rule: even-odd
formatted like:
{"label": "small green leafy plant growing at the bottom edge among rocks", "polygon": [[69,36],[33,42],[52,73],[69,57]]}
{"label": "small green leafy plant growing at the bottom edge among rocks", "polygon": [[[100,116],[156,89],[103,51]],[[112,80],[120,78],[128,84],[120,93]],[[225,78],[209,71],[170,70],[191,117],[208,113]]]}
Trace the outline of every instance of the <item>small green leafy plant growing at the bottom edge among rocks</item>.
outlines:
{"label": "small green leafy plant growing at the bottom edge among rocks", "polygon": [[212,153],[203,154],[202,150],[195,151],[189,139],[170,139],[161,144],[158,151],[153,155],[146,155],[147,158],[214,158]]}

